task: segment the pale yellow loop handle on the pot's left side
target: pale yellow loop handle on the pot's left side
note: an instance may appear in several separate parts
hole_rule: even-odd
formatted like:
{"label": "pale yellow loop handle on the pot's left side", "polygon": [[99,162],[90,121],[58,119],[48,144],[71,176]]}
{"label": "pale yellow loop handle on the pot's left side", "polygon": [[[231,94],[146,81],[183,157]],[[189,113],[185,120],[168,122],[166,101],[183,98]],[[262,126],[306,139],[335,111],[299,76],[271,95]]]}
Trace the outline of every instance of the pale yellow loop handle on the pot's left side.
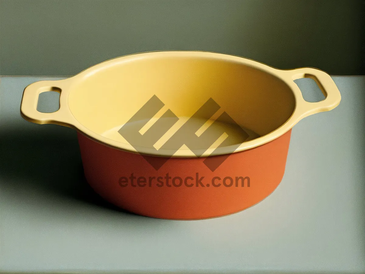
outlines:
{"label": "pale yellow loop handle on the pot's left side", "polygon": [[[37,124],[57,124],[74,128],[73,117],[68,107],[68,81],[38,81],[28,85],[23,92],[20,104],[20,114],[27,121]],[[59,95],[59,109],[51,113],[43,113],[37,110],[38,96],[42,92],[56,91]]]}

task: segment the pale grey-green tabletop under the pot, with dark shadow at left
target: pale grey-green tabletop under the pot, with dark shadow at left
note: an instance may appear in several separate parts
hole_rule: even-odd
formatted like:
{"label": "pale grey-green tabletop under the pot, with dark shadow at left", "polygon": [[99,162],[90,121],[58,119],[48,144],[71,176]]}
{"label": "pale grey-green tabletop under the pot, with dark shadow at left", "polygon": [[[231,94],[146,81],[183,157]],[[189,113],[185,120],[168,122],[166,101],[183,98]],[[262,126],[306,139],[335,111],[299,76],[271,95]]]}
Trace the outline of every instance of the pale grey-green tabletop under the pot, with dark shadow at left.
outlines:
{"label": "pale grey-green tabletop under the pot, with dark shadow at left", "polygon": [[85,181],[74,130],[20,117],[26,85],[61,78],[0,78],[0,272],[365,273],[365,76],[333,76],[340,105],[293,128],[273,194],[199,221],[114,208]]}

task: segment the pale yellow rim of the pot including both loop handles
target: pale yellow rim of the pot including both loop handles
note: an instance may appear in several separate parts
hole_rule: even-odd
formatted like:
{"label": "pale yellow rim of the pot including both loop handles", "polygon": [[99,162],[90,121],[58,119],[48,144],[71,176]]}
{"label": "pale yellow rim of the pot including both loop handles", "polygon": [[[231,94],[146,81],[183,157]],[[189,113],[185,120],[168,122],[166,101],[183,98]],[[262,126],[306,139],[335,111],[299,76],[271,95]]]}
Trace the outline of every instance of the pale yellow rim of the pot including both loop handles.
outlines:
{"label": "pale yellow rim of the pot including both loop handles", "polygon": [[[210,58],[251,66],[252,68],[269,73],[283,81],[291,89],[295,99],[295,107],[292,115],[285,123],[283,123],[283,125],[281,125],[277,129],[254,140],[243,142],[238,148],[236,148],[237,145],[226,146],[224,147],[223,153],[214,152],[215,148],[207,149],[207,151],[205,151],[200,157],[236,153],[264,145],[288,132],[297,122],[299,122],[304,117],[322,111],[332,110],[336,106],[338,106],[339,102],[341,101],[341,95],[334,81],[331,79],[331,76],[328,75],[326,72],[321,71],[320,69],[311,67],[297,69],[277,69],[262,62],[232,54],[197,50],[162,50],[133,53],[120,57],[115,57],[103,61],[99,64],[93,65],[85,69],[84,71],[81,71],[80,73],[77,73],[76,75],[64,80],[38,81],[32,83],[24,89],[22,103],[20,106],[20,113],[22,117],[27,121],[38,124],[52,123],[67,126],[77,130],[81,134],[87,136],[88,138],[91,138],[96,142],[122,151],[160,157],[197,157],[194,153],[192,153],[193,150],[190,149],[179,149],[176,153],[173,154],[173,156],[171,156],[171,150],[169,149],[158,149],[156,151],[155,149],[151,148],[137,146],[133,147],[132,145],[124,142],[111,140],[83,126],[80,122],[77,121],[77,119],[74,117],[69,109],[68,98],[69,93],[72,90],[71,87],[73,84],[78,83],[79,80],[82,80],[85,76],[90,77],[94,73],[97,73],[97,71],[99,71],[100,69],[104,69],[108,66],[113,66],[119,62],[131,62],[139,58],[158,58],[169,56]],[[299,87],[293,81],[299,78],[314,79],[326,98],[322,101],[314,103],[305,101]],[[45,91],[57,91],[60,93],[59,109],[53,113],[40,113],[37,111],[38,95]]]}

